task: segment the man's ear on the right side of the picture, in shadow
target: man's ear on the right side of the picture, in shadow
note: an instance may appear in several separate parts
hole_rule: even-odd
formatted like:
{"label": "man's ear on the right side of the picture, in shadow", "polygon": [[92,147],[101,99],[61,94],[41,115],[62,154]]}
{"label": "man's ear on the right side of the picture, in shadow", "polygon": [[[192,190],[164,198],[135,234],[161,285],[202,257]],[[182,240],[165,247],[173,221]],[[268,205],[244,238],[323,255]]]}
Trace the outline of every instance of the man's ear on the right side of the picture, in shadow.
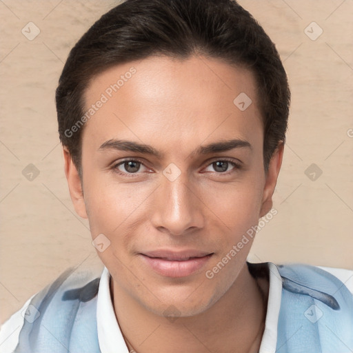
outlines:
{"label": "man's ear on the right side of the picture, in shadow", "polygon": [[263,199],[260,210],[260,217],[265,216],[272,208],[272,194],[276,187],[279,170],[281,169],[283,159],[284,143],[281,143],[276,149],[268,166],[268,172],[265,175],[265,186],[263,188]]}

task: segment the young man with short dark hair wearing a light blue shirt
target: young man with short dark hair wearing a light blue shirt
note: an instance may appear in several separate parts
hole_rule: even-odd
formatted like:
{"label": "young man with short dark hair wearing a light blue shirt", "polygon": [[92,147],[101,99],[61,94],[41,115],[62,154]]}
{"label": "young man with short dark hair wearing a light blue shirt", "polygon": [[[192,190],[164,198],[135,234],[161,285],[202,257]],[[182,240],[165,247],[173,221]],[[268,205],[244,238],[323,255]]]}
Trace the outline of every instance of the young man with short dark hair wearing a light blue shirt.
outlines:
{"label": "young man with short dark hair wearing a light blue shirt", "polygon": [[247,11],[125,1],[74,46],[56,102],[105,268],[33,296],[1,331],[8,352],[352,352],[353,272],[246,261],[276,212],[290,103]]}

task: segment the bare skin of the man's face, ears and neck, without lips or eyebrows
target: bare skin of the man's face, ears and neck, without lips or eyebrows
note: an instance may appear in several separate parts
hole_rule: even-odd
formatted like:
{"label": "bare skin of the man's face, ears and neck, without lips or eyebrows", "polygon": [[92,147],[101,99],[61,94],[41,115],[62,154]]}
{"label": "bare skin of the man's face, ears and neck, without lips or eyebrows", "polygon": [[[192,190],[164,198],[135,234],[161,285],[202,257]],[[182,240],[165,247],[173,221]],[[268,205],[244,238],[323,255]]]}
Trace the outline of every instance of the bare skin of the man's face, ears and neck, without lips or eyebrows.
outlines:
{"label": "bare skin of the man's face, ears and neck, without lips or eyebrows", "polygon": [[[254,76],[219,59],[149,57],[94,77],[85,91],[87,108],[132,66],[137,72],[85,124],[82,183],[63,148],[77,214],[89,219],[92,239],[103,233],[110,240],[97,253],[112,275],[112,301],[128,347],[138,353],[258,352],[266,307],[245,263],[253,239],[212,279],[205,276],[272,208],[283,144],[265,173]],[[252,99],[243,112],[233,103],[241,92]],[[100,149],[112,139],[151,145],[163,156]],[[231,139],[251,148],[193,153]],[[225,163],[220,172],[214,162],[224,158],[241,168]],[[117,167],[123,159],[143,164],[137,172]],[[163,174],[170,163],[181,172],[174,181]],[[194,274],[170,278],[139,255],[161,248],[214,254]],[[267,300],[268,282],[260,284]],[[174,321],[163,314],[171,306],[179,312]]]}

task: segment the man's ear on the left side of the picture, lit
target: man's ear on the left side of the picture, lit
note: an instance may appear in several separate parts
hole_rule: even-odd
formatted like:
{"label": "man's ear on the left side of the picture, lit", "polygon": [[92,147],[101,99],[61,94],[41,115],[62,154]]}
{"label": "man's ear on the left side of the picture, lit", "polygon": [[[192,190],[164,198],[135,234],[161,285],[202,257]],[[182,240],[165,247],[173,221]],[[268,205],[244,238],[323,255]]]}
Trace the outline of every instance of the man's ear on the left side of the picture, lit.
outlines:
{"label": "man's ear on the left side of the picture, lit", "polygon": [[72,161],[72,157],[67,148],[63,147],[63,159],[65,176],[68,180],[68,186],[72,203],[74,204],[74,210],[82,218],[88,218],[85,209],[85,199],[83,198],[83,190],[81,178],[77,171],[76,165]]}

